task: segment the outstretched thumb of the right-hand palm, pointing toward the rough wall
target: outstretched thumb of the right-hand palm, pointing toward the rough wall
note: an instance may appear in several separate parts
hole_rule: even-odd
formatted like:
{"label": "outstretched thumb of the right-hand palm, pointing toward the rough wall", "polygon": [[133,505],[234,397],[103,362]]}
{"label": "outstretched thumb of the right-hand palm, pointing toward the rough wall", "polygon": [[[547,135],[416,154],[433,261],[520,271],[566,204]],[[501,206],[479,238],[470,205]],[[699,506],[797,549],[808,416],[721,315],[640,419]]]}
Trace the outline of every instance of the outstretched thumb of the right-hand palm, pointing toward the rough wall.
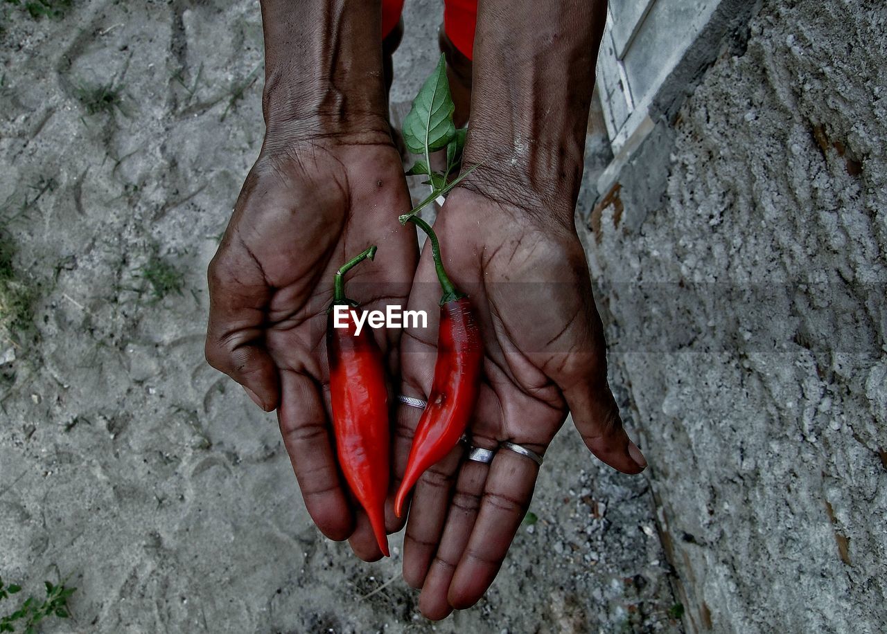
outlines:
{"label": "outstretched thumb of the right-hand palm, pointing toward the rough wall", "polygon": [[585,445],[599,460],[625,474],[647,468],[644,454],[625,433],[606,375],[593,383],[578,383],[564,391],[564,398]]}

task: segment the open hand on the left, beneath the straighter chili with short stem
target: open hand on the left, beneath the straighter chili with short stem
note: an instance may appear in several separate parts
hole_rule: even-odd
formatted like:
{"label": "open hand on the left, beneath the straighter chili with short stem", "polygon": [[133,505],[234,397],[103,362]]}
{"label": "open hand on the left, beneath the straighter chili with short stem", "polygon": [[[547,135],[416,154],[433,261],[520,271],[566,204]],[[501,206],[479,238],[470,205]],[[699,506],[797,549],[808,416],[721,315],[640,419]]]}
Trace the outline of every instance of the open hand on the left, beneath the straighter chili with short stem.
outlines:
{"label": "open hand on the left, beneath the straighter chili with short stem", "polygon": [[[318,528],[381,557],[366,514],[343,486],[328,421],[326,309],[338,267],[367,310],[403,305],[418,249],[397,222],[410,207],[390,137],[294,138],[270,132],[209,266],[207,359],[278,420],[305,506]],[[386,143],[387,139],[387,143]],[[396,376],[399,332],[373,330]]]}

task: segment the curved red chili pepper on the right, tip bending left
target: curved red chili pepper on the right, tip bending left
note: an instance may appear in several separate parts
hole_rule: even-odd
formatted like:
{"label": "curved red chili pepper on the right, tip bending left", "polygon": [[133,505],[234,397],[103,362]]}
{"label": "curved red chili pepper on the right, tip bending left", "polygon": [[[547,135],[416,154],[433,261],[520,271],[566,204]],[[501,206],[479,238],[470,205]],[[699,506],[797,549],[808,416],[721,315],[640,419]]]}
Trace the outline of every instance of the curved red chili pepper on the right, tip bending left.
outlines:
{"label": "curved red chili pepper on the right, tip bending left", "polygon": [[440,302],[435,377],[431,382],[428,406],[412,439],[404,481],[397,490],[394,506],[397,517],[401,516],[406,496],[420,475],[459,443],[474,414],[483,361],[481,331],[471,302],[456,290],[443,269],[440,245],[434,230],[428,222],[416,216],[410,220],[428,234],[443,297]]}

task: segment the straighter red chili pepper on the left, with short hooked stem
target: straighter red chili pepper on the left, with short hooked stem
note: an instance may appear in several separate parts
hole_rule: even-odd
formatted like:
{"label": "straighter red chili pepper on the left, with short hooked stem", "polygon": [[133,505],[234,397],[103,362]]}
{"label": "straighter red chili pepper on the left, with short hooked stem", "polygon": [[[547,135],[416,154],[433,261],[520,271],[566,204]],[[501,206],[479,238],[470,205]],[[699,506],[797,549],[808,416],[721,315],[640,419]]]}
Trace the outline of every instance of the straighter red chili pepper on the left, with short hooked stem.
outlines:
{"label": "straighter red chili pepper on the left, with short hooked stem", "polygon": [[[389,405],[385,365],[371,329],[357,335],[350,310],[357,304],[345,297],[342,276],[376,247],[351,259],[335,274],[333,305],[326,325],[330,365],[330,403],[339,464],[351,492],[364,507],[381,552],[388,557],[385,498],[389,487]],[[334,310],[349,307],[345,328],[334,328]],[[359,310],[359,309],[358,309]]]}

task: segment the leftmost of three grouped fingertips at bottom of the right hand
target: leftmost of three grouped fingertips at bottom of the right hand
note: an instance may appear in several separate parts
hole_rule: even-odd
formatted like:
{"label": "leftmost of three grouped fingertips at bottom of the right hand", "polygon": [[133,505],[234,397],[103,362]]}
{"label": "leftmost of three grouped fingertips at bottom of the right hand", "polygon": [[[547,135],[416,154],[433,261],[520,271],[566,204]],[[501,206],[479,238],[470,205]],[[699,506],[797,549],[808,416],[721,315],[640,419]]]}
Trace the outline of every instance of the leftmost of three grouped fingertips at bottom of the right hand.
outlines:
{"label": "leftmost of three grouped fingertips at bottom of the right hand", "polygon": [[446,458],[421,475],[413,491],[410,521],[404,535],[404,581],[413,588],[421,588],[425,583],[463,451],[461,444],[453,447]]}

